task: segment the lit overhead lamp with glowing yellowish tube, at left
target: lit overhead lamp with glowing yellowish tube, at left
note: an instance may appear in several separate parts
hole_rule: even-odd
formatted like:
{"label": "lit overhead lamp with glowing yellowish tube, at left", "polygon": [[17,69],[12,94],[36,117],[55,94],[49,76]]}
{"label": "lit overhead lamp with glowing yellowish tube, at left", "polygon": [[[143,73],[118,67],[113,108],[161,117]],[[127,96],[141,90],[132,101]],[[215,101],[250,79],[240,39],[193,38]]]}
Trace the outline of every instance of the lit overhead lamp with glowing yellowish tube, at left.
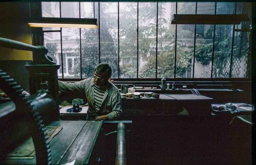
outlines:
{"label": "lit overhead lamp with glowing yellowish tube, at left", "polygon": [[30,18],[30,27],[57,27],[57,28],[98,28],[94,18]]}

